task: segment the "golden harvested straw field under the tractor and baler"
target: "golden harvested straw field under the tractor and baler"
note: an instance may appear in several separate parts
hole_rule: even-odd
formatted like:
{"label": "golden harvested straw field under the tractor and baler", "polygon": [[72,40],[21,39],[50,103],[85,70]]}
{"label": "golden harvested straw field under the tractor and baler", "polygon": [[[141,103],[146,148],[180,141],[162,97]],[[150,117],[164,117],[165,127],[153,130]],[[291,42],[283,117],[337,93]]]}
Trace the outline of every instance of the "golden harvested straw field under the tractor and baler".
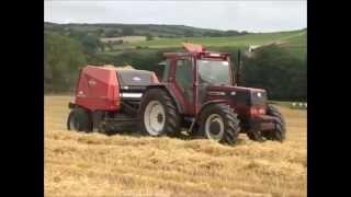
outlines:
{"label": "golden harvested straw field under the tractor and baler", "polygon": [[284,143],[66,130],[70,96],[45,96],[45,196],[306,196],[306,111],[280,107]]}

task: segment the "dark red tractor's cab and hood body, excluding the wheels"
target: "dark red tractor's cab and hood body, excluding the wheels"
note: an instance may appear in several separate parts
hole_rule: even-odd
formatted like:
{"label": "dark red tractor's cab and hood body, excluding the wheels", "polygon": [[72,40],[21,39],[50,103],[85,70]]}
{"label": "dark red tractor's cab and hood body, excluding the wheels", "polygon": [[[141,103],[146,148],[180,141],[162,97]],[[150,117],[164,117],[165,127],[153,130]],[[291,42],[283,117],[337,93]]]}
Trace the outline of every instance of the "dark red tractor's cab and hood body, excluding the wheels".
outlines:
{"label": "dark red tractor's cab and hood body, excluding the wheels", "polygon": [[[206,102],[225,100],[240,116],[265,113],[265,91],[238,86],[227,53],[213,53],[196,44],[183,44],[185,53],[165,53],[162,82],[179,95],[184,114],[197,114]],[[251,107],[258,108],[250,111]]]}

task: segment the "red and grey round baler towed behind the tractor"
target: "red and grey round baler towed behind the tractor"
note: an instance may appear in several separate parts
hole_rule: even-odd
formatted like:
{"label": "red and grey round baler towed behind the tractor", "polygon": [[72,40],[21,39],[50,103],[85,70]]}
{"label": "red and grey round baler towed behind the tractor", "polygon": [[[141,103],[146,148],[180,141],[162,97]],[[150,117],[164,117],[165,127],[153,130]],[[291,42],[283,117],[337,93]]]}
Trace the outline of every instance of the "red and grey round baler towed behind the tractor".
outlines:
{"label": "red and grey round baler towed behind the tractor", "polygon": [[90,132],[135,129],[144,90],[158,83],[151,71],[87,66],[81,69],[67,128]]}

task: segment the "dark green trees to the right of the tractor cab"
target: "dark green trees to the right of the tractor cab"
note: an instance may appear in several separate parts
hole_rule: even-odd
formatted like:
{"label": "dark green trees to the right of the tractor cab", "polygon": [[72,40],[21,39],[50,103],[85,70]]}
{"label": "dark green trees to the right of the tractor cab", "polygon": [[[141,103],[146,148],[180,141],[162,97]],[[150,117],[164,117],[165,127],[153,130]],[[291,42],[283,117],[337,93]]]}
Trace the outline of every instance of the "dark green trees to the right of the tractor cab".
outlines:
{"label": "dark green trees to the right of the tractor cab", "polygon": [[306,100],[307,65],[278,46],[256,50],[245,58],[242,80],[246,86],[265,89],[271,99]]}

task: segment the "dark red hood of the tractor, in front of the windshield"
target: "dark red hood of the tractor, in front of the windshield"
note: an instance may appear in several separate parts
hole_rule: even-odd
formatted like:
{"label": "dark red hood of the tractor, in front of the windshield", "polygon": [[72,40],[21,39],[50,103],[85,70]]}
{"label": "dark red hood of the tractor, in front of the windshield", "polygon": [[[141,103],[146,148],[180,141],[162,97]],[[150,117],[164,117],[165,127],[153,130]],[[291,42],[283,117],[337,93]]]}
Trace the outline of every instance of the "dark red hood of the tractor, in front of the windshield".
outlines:
{"label": "dark red hood of the tractor, in front of the windshield", "polygon": [[267,102],[267,92],[262,89],[218,85],[208,86],[206,92],[210,100],[226,99],[240,105],[265,105]]}

